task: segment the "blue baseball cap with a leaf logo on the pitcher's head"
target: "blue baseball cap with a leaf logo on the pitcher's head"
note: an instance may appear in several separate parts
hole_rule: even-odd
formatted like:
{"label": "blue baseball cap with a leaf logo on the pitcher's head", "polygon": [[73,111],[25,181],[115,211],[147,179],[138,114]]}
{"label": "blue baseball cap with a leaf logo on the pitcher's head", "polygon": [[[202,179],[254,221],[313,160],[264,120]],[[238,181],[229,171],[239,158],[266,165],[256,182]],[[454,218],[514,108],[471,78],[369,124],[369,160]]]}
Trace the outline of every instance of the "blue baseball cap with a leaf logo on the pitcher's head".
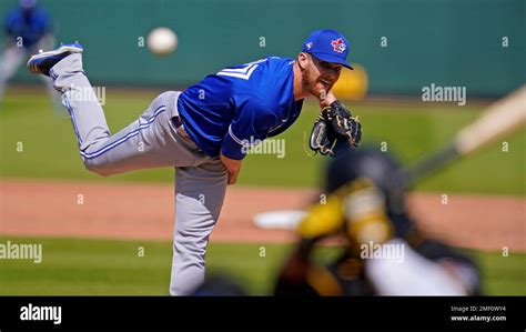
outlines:
{"label": "blue baseball cap with a leaf logo on the pitcher's head", "polygon": [[302,52],[331,63],[353,69],[347,62],[348,41],[336,30],[316,30],[303,42]]}

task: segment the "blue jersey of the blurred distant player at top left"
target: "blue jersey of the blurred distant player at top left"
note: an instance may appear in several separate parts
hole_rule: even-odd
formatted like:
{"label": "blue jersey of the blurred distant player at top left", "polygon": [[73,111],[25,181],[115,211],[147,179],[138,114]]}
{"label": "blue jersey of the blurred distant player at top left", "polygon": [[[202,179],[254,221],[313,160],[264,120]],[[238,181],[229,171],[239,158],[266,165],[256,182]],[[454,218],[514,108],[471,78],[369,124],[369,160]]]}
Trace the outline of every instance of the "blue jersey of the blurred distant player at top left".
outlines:
{"label": "blue jersey of the blurred distant player at top left", "polygon": [[41,9],[33,9],[29,14],[13,9],[6,17],[6,31],[13,39],[21,37],[23,47],[31,48],[51,31],[51,20]]}

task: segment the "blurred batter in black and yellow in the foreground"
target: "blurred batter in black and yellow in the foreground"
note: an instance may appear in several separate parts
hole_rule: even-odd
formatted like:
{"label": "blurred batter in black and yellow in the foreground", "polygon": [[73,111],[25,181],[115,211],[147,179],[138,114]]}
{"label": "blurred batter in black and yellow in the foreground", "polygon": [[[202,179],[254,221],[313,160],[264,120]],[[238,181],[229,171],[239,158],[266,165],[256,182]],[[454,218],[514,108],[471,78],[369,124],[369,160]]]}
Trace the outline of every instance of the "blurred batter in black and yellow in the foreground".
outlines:
{"label": "blurred batter in black and yellow in the foreground", "polygon": [[[331,162],[326,202],[313,205],[299,227],[300,243],[285,263],[276,295],[475,295],[475,264],[424,238],[394,189],[397,162],[360,149]],[[344,234],[344,254],[328,266],[312,261],[315,244]]]}

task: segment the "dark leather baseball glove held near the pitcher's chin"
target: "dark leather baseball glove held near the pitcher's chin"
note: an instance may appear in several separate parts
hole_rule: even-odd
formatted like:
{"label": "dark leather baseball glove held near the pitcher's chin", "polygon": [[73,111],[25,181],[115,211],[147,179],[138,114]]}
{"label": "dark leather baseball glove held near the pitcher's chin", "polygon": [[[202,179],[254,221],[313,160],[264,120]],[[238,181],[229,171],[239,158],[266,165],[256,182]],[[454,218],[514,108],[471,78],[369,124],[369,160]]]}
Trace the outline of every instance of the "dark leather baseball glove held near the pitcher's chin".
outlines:
{"label": "dark leather baseball glove held near the pitcher's chin", "polygon": [[311,132],[310,147],[314,152],[334,157],[334,147],[338,140],[355,149],[362,140],[362,124],[353,118],[344,104],[336,100],[322,109]]}

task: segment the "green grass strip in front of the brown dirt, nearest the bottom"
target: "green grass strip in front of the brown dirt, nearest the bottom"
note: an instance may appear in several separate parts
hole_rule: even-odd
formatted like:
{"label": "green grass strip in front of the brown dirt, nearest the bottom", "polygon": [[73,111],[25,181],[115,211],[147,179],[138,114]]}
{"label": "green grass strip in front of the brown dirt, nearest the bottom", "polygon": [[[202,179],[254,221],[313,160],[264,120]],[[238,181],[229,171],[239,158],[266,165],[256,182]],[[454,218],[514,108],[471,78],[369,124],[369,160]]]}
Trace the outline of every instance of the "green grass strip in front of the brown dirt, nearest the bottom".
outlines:
{"label": "green grass strip in front of the brown dirt, nearest the bottom", "polygon": [[[172,247],[158,241],[113,241],[1,237],[0,243],[40,243],[40,264],[0,260],[0,295],[165,295]],[[144,256],[139,256],[139,248]],[[262,248],[265,256],[261,256]],[[253,295],[270,294],[289,244],[211,243],[208,273],[225,273]],[[327,261],[338,248],[321,248],[316,260]],[[490,295],[526,295],[526,254],[469,250],[482,268]]]}

